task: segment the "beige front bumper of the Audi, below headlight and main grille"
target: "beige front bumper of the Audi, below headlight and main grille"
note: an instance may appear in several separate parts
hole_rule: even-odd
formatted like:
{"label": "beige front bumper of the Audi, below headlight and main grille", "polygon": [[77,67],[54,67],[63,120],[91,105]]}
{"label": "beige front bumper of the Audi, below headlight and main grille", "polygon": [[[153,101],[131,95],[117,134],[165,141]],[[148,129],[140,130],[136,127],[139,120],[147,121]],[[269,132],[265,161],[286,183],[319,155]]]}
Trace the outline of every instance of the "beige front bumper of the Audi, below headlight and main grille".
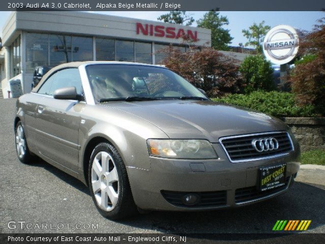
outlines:
{"label": "beige front bumper of the Audi, below headlight and main grille", "polygon": [[[224,151],[215,145],[218,160],[172,160],[150,158],[149,170],[127,168],[134,200],[138,207],[152,210],[196,211],[236,207],[262,201],[285,192],[293,183],[300,167],[299,152],[275,159],[231,163]],[[286,185],[259,193],[258,168],[286,164]],[[186,206],[180,198],[195,193],[201,203]]]}

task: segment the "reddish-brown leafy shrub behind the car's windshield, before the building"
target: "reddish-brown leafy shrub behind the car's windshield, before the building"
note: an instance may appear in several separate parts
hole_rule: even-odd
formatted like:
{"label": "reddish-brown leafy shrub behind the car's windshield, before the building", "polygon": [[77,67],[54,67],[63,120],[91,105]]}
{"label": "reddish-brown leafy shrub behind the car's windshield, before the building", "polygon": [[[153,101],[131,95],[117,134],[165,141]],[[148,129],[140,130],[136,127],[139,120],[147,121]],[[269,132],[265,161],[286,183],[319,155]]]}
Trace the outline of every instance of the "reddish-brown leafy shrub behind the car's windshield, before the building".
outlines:
{"label": "reddish-brown leafy shrub behind the car's windshield, before the building", "polygon": [[[193,49],[194,50],[194,49]],[[238,72],[238,60],[209,47],[201,51],[180,52],[172,46],[161,50],[163,64],[183,76],[194,86],[204,89],[209,97],[239,93],[243,83]]]}

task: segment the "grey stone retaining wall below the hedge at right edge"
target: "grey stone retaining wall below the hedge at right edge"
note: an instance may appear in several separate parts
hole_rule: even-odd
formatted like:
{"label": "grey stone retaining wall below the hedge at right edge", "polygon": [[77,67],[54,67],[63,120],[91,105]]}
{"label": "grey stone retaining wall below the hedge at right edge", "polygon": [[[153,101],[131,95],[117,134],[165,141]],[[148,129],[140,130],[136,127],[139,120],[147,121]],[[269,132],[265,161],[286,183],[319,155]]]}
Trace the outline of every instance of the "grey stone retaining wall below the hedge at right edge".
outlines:
{"label": "grey stone retaining wall below the hedge at right edge", "polygon": [[310,149],[325,150],[325,117],[285,117],[283,121],[295,134],[302,151]]}

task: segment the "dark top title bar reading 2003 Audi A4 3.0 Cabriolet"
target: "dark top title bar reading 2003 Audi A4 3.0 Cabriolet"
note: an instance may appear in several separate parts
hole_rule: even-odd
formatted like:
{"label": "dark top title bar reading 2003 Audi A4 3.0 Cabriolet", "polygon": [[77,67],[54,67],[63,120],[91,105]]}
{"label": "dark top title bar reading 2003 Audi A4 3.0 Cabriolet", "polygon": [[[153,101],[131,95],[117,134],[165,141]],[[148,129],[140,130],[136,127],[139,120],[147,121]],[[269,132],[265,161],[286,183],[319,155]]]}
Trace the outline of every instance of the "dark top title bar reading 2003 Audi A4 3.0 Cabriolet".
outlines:
{"label": "dark top title bar reading 2003 Audi A4 3.0 Cabriolet", "polygon": [[324,0],[8,0],[1,11],[322,11]]}

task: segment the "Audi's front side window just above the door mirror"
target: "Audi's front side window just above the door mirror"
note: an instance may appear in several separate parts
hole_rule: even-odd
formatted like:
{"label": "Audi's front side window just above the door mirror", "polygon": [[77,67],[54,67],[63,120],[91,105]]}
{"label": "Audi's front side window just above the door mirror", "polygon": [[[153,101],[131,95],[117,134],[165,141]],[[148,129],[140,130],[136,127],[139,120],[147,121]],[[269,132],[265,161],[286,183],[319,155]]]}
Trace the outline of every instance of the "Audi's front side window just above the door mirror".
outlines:
{"label": "Audi's front side window just above the door mirror", "polygon": [[77,94],[83,95],[81,78],[77,68],[68,68],[56,72],[54,81],[52,82],[49,95],[53,95],[54,91],[59,88],[75,86]]}

